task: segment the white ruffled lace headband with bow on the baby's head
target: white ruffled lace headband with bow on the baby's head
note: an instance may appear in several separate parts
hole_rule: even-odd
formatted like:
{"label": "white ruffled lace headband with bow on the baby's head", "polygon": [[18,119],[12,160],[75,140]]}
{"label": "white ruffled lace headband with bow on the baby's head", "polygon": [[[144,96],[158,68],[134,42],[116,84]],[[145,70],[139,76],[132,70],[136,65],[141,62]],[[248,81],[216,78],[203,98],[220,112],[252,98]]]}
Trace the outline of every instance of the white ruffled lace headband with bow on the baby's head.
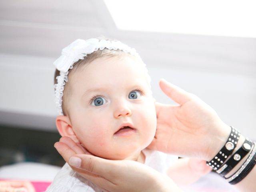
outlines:
{"label": "white ruffled lace headband with bow on the baby's head", "polygon": [[103,50],[104,48],[109,50],[122,50],[136,56],[139,60],[142,61],[134,48],[130,48],[120,41],[98,40],[96,38],[88,40],[75,40],[70,45],[62,49],[61,56],[53,63],[57,70],[60,71],[60,76],[56,77],[57,83],[54,85],[55,103],[60,115],[63,115],[62,96],[65,82],[68,81],[68,70],[72,69],[73,64],[78,60],[83,59],[85,56],[91,54],[94,51],[99,49]]}

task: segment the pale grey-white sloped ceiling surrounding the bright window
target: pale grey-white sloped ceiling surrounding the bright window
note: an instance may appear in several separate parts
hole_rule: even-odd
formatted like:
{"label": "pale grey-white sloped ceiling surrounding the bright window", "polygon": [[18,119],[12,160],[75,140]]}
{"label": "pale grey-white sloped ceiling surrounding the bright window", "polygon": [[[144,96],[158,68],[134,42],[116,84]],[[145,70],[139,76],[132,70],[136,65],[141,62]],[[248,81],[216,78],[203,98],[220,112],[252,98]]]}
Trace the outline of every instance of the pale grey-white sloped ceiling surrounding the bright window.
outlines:
{"label": "pale grey-white sloped ceiling surrounding the bright window", "polygon": [[256,38],[120,31],[103,0],[0,2],[3,53],[56,58],[73,40],[101,35],[135,47],[147,64],[154,65],[157,60],[175,68],[228,68],[234,73],[245,72],[241,68],[246,65],[252,69],[251,75],[256,71]]}

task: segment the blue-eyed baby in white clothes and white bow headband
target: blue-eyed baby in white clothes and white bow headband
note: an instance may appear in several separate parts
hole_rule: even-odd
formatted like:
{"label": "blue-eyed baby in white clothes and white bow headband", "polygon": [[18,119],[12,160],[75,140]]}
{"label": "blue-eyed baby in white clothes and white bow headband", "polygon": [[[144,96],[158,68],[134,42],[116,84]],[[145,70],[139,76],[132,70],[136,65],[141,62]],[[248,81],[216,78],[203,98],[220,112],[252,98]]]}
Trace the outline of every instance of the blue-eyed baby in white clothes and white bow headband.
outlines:
{"label": "blue-eyed baby in white clothes and white bow headband", "polygon": [[[168,172],[174,181],[194,181],[202,175],[191,166],[197,161],[177,162],[176,156],[146,149],[156,132],[155,100],[146,65],[136,50],[114,40],[78,39],[62,50],[54,65],[61,136],[95,156],[135,160]],[[102,190],[65,164],[47,191]]]}

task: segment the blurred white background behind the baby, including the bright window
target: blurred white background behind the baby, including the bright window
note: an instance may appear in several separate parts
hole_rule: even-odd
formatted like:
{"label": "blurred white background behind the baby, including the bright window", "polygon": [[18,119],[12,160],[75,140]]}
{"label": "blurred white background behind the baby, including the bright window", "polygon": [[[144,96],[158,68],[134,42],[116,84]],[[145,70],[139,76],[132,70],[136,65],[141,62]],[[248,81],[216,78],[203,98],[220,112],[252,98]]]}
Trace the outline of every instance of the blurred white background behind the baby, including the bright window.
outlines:
{"label": "blurred white background behind the baby, including the bright window", "polygon": [[165,78],[256,138],[253,1],[113,2],[0,2],[0,124],[56,132],[52,63],[75,39],[103,35],[136,48],[157,101],[172,103]]}

